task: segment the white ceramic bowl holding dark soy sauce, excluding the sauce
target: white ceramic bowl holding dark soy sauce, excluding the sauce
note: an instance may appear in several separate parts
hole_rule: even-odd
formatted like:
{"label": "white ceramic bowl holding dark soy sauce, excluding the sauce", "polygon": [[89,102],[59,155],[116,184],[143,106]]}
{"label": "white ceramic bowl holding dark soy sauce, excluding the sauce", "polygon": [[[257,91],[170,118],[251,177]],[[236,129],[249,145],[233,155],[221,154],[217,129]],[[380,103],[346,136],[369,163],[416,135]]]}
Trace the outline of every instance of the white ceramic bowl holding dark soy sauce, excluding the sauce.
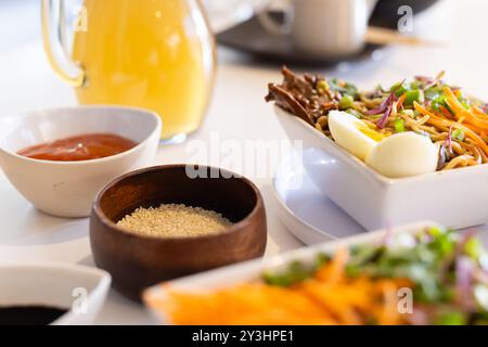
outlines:
{"label": "white ceramic bowl holding dark soy sauce, excluding the sauce", "polygon": [[0,306],[43,306],[68,310],[53,325],[91,324],[111,286],[105,271],[59,264],[0,266]]}

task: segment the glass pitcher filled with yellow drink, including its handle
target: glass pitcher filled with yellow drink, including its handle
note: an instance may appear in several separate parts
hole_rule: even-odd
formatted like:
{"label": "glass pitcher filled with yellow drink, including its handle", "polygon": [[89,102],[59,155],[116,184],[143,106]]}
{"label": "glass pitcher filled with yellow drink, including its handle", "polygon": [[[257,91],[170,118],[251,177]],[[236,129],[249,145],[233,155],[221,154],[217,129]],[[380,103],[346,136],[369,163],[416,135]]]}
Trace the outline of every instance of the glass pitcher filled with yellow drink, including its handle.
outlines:
{"label": "glass pitcher filled with yellow drink, including its handle", "polygon": [[42,34],[53,70],[81,104],[155,111],[165,140],[202,123],[216,54],[200,0],[42,0]]}

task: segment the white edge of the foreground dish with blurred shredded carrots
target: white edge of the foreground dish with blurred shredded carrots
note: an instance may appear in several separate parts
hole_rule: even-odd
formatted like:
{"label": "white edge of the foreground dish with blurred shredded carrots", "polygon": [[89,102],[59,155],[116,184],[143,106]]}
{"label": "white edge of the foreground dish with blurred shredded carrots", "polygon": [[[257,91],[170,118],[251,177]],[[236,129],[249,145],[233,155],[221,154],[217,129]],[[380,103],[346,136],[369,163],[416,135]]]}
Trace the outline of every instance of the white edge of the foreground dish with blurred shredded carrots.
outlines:
{"label": "white edge of the foreground dish with blurred shredded carrots", "polygon": [[169,318],[164,311],[160,310],[160,306],[158,305],[158,301],[162,301],[167,297],[168,288],[170,291],[180,290],[190,293],[221,290],[236,284],[256,281],[262,275],[264,272],[286,268],[292,261],[295,260],[312,262],[317,259],[317,255],[333,254],[338,247],[351,247],[361,244],[377,244],[384,240],[385,235],[389,232],[391,232],[391,234],[414,234],[427,227],[438,226],[438,223],[429,221],[411,223],[395,228],[391,231],[381,230],[372,233],[364,233],[361,235],[343,239],[341,241],[333,241],[312,247],[309,246],[295,249],[267,259],[241,262],[217,270],[177,279],[166,282],[164,285],[158,284],[147,288],[144,292],[144,303],[162,324],[170,324]]}

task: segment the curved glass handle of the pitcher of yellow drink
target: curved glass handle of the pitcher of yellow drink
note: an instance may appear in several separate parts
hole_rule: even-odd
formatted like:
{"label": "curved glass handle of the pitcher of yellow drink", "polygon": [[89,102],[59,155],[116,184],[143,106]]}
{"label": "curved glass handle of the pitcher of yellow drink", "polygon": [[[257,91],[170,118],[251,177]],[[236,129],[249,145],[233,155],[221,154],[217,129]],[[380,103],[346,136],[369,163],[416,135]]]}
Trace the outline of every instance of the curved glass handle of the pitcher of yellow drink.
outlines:
{"label": "curved glass handle of the pitcher of yellow drink", "polygon": [[68,55],[63,1],[42,0],[42,41],[54,73],[67,85],[81,87],[86,82],[86,74]]}

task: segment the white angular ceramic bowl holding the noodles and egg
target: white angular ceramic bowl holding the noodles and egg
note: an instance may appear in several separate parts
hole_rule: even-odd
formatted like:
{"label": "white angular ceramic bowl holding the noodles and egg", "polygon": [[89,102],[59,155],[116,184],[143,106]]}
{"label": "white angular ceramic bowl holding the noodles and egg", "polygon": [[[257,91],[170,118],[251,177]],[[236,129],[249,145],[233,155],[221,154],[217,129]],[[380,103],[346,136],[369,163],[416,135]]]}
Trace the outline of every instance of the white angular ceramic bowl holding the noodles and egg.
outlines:
{"label": "white angular ceramic bowl holding the noodles and egg", "polygon": [[488,165],[389,179],[303,119],[274,110],[288,138],[303,141],[314,185],[365,229],[426,219],[457,229],[488,221]]}

